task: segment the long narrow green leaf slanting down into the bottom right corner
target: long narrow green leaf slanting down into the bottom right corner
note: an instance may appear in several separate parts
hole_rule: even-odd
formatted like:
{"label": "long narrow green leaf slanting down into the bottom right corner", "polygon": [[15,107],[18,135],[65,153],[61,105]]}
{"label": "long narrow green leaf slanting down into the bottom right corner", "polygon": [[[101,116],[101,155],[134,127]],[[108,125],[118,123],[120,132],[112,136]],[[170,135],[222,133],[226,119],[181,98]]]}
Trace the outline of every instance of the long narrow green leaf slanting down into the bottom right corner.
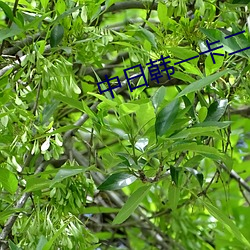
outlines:
{"label": "long narrow green leaf slanting down into the bottom right corner", "polygon": [[[201,199],[200,199],[201,200]],[[238,227],[230,220],[221,210],[213,206],[212,204],[202,201],[208,212],[215,217],[223,226],[234,235],[239,241],[241,241],[245,246],[250,248],[250,242],[245,238],[245,236],[240,232]]]}

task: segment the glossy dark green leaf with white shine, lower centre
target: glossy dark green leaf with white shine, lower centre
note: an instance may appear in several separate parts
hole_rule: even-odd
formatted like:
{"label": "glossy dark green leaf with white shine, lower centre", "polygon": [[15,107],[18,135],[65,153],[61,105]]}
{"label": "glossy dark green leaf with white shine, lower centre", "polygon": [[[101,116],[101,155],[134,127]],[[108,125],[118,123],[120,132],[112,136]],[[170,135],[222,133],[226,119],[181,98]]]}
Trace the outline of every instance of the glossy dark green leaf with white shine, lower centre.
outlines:
{"label": "glossy dark green leaf with white shine, lower centre", "polygon": [[109,176],[99,187],[99,190],[117,190],[133,183],[136,177],[132,174],[120,172]]}

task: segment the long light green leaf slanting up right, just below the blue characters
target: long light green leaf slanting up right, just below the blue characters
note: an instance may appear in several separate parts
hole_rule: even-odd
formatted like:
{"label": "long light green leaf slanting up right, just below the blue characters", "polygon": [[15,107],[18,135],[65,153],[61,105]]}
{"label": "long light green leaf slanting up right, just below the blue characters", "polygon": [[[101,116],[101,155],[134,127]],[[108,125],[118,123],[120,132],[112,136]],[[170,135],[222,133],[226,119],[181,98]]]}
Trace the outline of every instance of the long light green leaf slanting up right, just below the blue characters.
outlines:
{"label": "long light green leaf slanting up right, just below the blue characters", "polygon": [[200,79],[198,81],[195,81],[195,82],[189,84],[185,89],[183,89],[177,95],[177,98],[206,87],[207,85],[209,85],[209,84],[213,83],[214,81],[218,80],[221,76],[227,74],[228,72],[230,72],[230,71],[229,70],[223,70],[221,72],[215,73],[214,75],[207,76],[205,78],[202,78],[202,79]]}

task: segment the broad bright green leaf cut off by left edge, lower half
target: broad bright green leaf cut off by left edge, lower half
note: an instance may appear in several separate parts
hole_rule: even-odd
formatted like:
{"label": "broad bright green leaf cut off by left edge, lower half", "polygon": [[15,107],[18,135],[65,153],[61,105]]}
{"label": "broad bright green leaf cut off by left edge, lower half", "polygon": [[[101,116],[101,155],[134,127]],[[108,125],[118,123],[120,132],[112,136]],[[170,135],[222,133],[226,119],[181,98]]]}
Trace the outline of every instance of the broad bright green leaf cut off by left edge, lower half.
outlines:
{"label": "broad bright green leaf cut off by left edge, lower half", "polygon": [[0,168],[0,183],[11,194],[14,194],[18,187],[18,180],[16,176],[5,168]]}

